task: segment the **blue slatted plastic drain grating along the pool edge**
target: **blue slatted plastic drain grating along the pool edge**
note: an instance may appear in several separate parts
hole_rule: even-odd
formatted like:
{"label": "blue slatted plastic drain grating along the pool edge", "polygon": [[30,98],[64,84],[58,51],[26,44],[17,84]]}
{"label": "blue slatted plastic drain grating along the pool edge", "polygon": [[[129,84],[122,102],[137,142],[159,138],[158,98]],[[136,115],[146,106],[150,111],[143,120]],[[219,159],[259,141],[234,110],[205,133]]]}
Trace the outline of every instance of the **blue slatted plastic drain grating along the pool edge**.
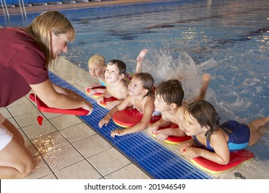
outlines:
{"label": "blue slatted plastic drain grating along the pool edge", "polygon": [[84,94],[70,83],[64,81],[56,74],[49,72],[50,80],[63,88],[68,88],[79,93],[87,101],[90,101],[94,110],[88,116],[79,116],[95,132],[103,136],[111,145],[120,150],[128,158],[139,165],[142,170],[152,176],[153,179],[212,179],[208,174],[202,172],[197,167],[185,161],[177,154],[171,152],[157,141],[153,140],[144,132],[116,136],[114,139],[110,132],[114,129],[122,129],[113,121],[103,128],[99,128],[98,123],[108,110],[102,108],[96,101]]}

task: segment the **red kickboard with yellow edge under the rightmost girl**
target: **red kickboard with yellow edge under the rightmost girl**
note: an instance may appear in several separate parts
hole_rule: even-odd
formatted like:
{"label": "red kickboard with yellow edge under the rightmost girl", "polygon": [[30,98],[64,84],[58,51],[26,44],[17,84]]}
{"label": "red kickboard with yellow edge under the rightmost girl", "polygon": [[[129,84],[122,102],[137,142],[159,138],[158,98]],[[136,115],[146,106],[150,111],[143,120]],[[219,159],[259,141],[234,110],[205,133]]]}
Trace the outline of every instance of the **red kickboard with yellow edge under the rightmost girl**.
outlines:
{"label": "red kickboard with yellow edge under the rightmost girl", "polygon": [[206,172],[219,173],[229,170],[232,167],[236,167],[237,165],[243,163],[243,161],[252,159],[253,157],[254,154],[248,150],[237,150],[230,153],[230,162],[227,165],[221,165],[219,163],[209,161],[208,159],[204,159],[203,157],[196,157],[192,159],[191,162]]}

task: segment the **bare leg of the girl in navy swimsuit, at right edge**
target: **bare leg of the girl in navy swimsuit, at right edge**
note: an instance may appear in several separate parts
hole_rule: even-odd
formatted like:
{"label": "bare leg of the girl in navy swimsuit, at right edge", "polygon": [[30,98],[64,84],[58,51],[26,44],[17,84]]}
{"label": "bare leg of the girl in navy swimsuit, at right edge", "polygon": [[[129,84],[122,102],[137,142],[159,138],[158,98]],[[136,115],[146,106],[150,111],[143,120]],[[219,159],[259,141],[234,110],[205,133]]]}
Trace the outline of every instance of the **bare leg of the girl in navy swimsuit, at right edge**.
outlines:
{"label": "bare leg of the girl in navy swimsuit, at right edge", "polygon": [[264,134],[263,126],[266,125],[269,121],[269,116],[263,117],[260,119],[255,119],[248,124],[250,128],[250,142],[248,145],[254,145],[261,139],[261,136]]}

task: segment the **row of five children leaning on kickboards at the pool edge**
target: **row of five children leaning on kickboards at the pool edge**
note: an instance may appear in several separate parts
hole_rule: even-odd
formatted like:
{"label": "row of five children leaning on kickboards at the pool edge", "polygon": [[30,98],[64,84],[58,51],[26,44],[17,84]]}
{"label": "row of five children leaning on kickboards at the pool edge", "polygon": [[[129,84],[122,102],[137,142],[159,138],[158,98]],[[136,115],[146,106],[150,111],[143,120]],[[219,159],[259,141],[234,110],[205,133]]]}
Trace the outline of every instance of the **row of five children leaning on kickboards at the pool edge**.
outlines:
{"label": "row of five children leaning on kickboards at the pool edge", "polygon": [[[192,136],[192,139],[179,146],[179,151],[186,159],[202,156],[224,165],[230,161],[230,151],[246,148],[259,141],[265,132],[263,126],[268,123],[269,116],[251,121],[249,125],[237,121],[227,121],[220,125],[215,108],[204,101],[210,82],[209,74],[203,75],[199,96],[188,105],[183,102],[181,81],[170,79],[159,83],[155,88],[152,75],[142,72],[143,57],[147,52],[148,50],[143,49],[137,57],[135,74],[126,72],[126,64],[123,61],[114,59],[106,65],[105,59],[100,55],[89,59],[90,75],[97,78],[99,83],[89,85],[86,90],[90,89],[90,94],[102,93],[97,98],[99,104],[110,96],[118,99],[106,105],[110,112],[99,121],[100,128],[108,125],[115,112],[133,106],[143,114],[141,121],[130,128],[113,130],[113,138],[146,128],[149,134],[155,134],[159,141],[165,141],[168,136],[188,135]],[[101,85],[106,88],[99,88]],[[158,113],[161,114],[161,119],[150,124],[152,116]],[[171,123],[179,128],[170,128]]]}

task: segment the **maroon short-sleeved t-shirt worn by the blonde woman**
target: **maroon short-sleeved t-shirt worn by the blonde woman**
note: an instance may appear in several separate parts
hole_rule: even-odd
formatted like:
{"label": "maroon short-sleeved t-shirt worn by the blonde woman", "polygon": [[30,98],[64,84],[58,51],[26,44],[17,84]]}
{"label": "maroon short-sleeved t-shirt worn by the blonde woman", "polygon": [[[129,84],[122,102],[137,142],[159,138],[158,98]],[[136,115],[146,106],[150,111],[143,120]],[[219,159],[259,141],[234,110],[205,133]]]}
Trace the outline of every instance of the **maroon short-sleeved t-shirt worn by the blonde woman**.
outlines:
{"label": "maroon short-sleeved t-shirt worn by the blonde woman", "polygon": [[30,84],[48,79],[43,52],[19,28],[0,28],[0,107],[30,92]]}

